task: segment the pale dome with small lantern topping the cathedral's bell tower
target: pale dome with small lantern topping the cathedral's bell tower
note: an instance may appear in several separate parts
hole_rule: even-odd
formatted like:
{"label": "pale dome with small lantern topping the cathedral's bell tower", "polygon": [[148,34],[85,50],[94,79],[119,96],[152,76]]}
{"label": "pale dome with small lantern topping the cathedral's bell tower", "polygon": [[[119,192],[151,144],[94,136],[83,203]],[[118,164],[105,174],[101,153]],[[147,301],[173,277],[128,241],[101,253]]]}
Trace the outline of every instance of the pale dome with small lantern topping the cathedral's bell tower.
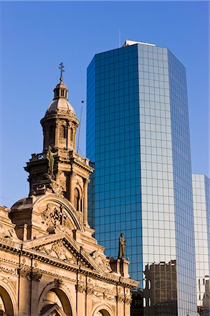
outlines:
{"label": "pale dome with small lantern topping the cathedral's bell tower", "polygon": [[69,103],[67,98],[68,96],[68,88],[62,82],[62,77],[60,78],[59,84],[54,89],[54,99],[50,103],[45,116],[52,113],[66,113],[70,114],[72,117],[76,117],[76,112],[73,110],[72,105]]}

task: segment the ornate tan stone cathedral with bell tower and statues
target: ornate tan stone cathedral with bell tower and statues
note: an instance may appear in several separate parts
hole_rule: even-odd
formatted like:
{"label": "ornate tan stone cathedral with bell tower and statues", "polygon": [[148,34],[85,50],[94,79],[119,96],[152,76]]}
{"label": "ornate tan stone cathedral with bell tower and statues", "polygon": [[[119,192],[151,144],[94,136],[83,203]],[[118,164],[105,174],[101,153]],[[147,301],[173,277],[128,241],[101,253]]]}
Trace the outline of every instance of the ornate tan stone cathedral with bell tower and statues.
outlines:
{"label": "ornate tan stone cathedral with bell tower and statues", "polygon": [[43,152],[25,166],[29,197],[0,206],[0,315],[130,316],[131,289],[120,236],[106,257],[87,220],[94,172],[76,152],[79,121],[62,72],[45,117]]}

